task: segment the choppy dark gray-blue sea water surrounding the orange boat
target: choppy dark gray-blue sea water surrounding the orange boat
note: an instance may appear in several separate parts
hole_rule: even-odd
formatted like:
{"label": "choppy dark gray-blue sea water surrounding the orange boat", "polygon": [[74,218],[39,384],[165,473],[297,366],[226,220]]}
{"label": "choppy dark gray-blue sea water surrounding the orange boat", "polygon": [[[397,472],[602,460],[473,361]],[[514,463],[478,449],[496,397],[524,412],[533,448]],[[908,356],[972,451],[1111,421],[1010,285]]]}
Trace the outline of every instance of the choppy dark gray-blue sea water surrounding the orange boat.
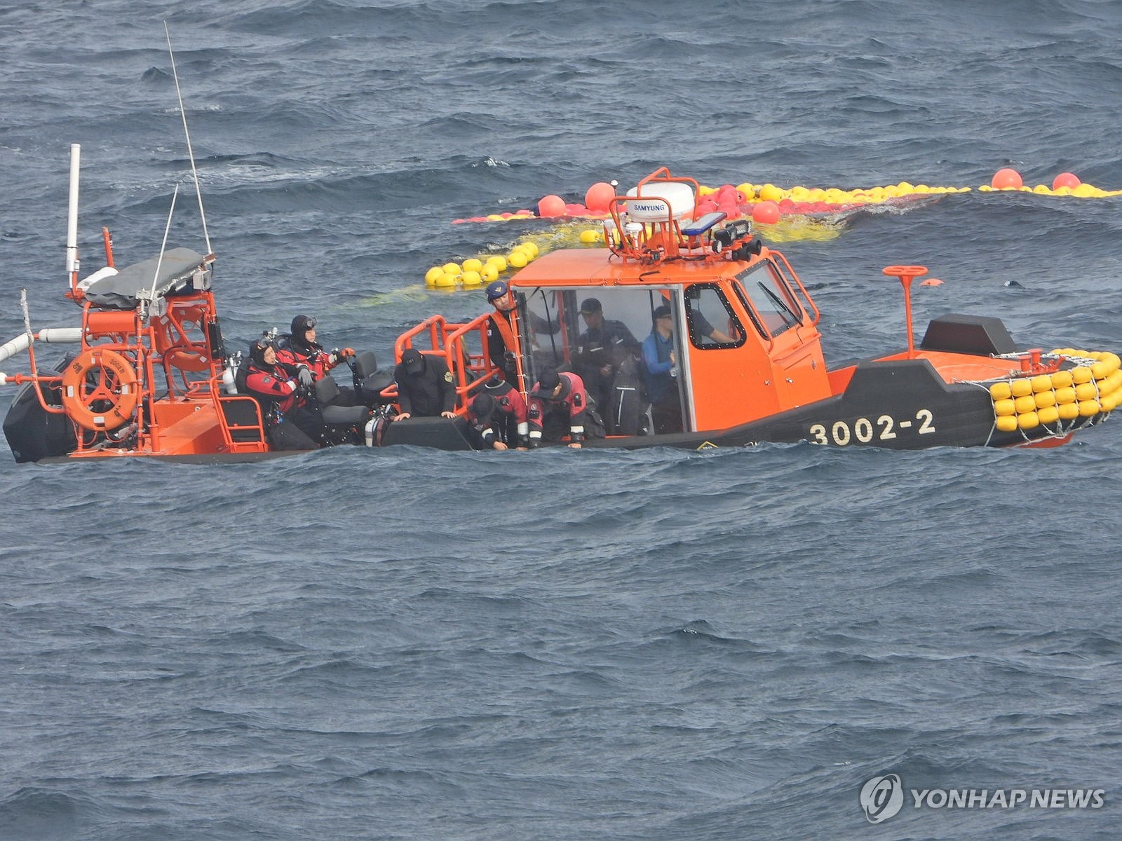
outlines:
{"label": "choppy dark gray-blue sea water surrounding the orange boat", "polygon": [[[22,2],[0,9],[0,341],[204,250],[227,340],[374,350],[453,225],[656,166],[705,184],[1122,188],[1112,2]],[[1119,198],[975,190],[773,242],[830,359],[996,315],[1122,350]],[[764,232],[764,237],[767,233]],[[6,362],[6,372],[25,370]],[[11,386],[0,387],[7,410]],[[16,465],[0,443],[0,839],[1113,839],[1112,419],[1055,450],[337,449]],[[895,774],[905,801],[859,803]],[[1102,789],[917,807],[911,789]]]}

